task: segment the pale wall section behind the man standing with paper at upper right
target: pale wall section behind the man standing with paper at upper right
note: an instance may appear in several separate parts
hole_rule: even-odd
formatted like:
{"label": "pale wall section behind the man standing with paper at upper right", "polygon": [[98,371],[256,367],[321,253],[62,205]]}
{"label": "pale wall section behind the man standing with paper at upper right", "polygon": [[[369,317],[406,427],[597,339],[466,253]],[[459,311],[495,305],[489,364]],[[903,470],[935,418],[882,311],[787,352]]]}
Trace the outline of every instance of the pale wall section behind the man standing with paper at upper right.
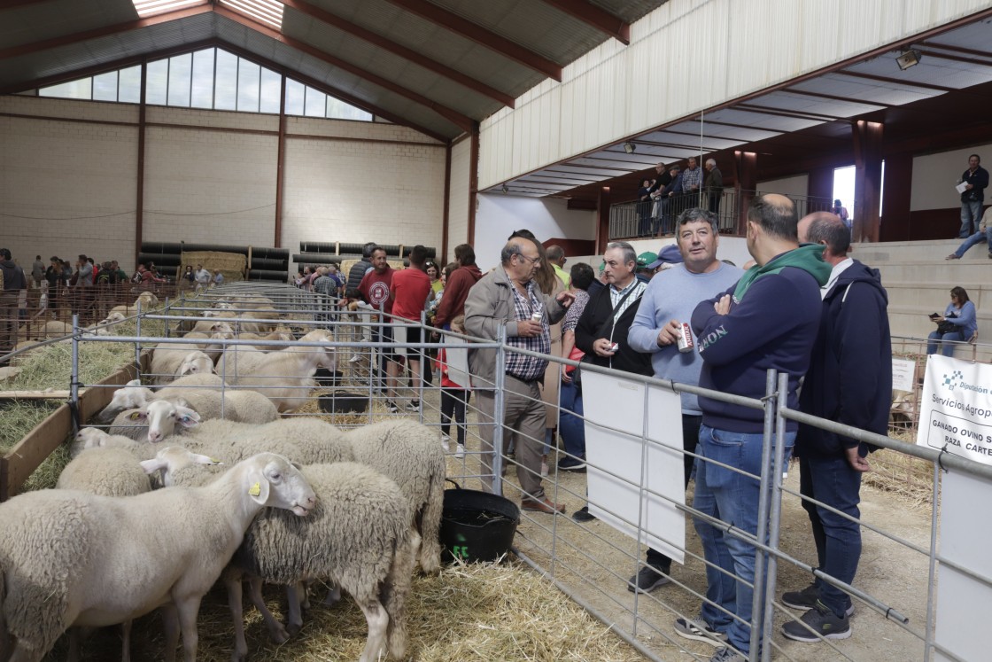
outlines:
{"label": "pale wall section behind the man standing with paper at upper right", "polygon": [[[982,168],[992,168],[992,143],[913,159],[910,211],[960,206],[961,196],[954,191],[954,185],[968,169],[968,156],[972,154],[982,158]],[[985,191],[986,203],[990,193],[992,192],[989,190]]]}

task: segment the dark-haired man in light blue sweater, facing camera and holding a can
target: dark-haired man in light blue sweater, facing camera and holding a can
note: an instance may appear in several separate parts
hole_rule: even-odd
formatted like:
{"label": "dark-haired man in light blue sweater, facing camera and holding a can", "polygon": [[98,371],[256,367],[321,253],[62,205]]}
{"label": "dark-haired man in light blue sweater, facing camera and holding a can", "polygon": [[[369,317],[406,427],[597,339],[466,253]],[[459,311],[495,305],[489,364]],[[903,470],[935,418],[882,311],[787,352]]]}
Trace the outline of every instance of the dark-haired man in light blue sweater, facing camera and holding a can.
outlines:
{"label": "dark-haired man in light blue sweater, facing camera and holding a can", "polygon": [[[679,350],[682,323],[689,321],[697,303],[723,292],[736,283],[744,272],[716,259],[716,249],[720,245],[716,215],[705,209],[692,207],[679,215],[676,240],[682,262],[658,273],[651,280],[630,328],[628,341],[632,348],[651,354],[656,377],[695,386],[699,383],[702,357],[696,351]],[[648,266],[657,269],[662,263],[663,258],[660,257]],[[695,461],[695,457],[690,454],[695,453],[699,441],[702,412],[699,411],[694,394],[683,391],[681,398],[682,448],[686,452],[682,461],[687,484]],[[672,559],[649,548],[647,564],[628,581],[628,589],[653,591],[672,581],[669,577],[671,572]],[[707,573],[709,572],[719,571],[707,569]],[[718,585],[714,583],[714,586]],[[715,595],[708,597],[713,601],[719,599]],[[729,622],[729,616],[704,603],[703,622],[681,620],[682,627],[677,631],[682,636],[715,643],[719,638],[718,633],[710,627],[707,636],[706,624]]]}

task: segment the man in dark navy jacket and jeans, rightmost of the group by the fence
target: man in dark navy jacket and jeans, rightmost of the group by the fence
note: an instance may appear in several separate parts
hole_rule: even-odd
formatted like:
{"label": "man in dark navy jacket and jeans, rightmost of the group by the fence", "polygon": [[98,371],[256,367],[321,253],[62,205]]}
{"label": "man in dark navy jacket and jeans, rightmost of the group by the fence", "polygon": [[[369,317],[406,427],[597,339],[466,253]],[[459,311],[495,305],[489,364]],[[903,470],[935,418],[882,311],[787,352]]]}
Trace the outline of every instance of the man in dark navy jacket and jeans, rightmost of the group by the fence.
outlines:
{"label": "man in dark navy jacket and jeans, rightmost of the group by the fence", "polygon": [[[821,244],[823,259],[832,266],[830,280],[820,289],[823,299],[819,332],[803,390],[800,409],[830,421],[886,434],[892,393],[892,338],[889,297],[875,269],[847,256],[850,232],[832,213],[818,211],[800,221],[800,240]],[[861,557],[858,519],[861,474],[870,470],[868,448],[849,437],[800,424],[796,455],[800,459],[800,492],[833,510],[804,499],[812,524],[817,567],[844,584],[851,584]],[[803,591],[782,596],[787,605],[804,609],[799,621],[782,632],[797,641],[846,639],[851,598],[817,579]],[[818,636],[817,636],[818,635]]]}

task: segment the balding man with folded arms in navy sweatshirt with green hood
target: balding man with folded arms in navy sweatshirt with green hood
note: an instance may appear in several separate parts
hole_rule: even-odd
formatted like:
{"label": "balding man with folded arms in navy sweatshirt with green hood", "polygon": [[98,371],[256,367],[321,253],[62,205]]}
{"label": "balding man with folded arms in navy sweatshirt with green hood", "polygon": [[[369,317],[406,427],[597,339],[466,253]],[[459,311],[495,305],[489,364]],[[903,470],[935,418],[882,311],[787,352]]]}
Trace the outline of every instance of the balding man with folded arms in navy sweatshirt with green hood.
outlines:
{"label": "balding man with folded arms in navy sweatshirt with green hood", "polygon": [[[799,382],[819,328],[819,288],[830,275],[821,246],[799,245],[798,222],[796,207],[785,196],[751,201],[747,246],[755,266],[735,286],[701,302],[692,313],[692,331],[703,361],[699,386],[762,398],[766,372],[774,368],[789,375],[789,407],[798,407]],[[699,409],[702,425],[693,507],[757,535],[764,412],[704,396],[699,396]],[[787,451],[797,429],[796,422],[787,421]],[[751,650],[755,548],[701,521],[696,522],[696,531],[706,561],[727,573],[715,578],[720,583],[715,591],[720,606],[736,616],[727,624],[710,623],[726,634],[728,643],[711,662],[743,661]],[[760,650],[760,628],[757,632]]]}

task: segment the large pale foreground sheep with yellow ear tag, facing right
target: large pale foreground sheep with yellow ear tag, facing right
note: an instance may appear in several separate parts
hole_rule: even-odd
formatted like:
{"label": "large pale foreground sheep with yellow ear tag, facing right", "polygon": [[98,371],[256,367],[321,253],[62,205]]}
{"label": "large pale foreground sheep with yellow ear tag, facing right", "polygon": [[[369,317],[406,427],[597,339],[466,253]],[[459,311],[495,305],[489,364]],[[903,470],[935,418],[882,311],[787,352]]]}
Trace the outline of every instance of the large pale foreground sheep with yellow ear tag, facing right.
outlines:
{"label": "large pale foreground sheep with yellow ear tag, facing right", "polygon": [[[99,627],[164,607],[196,657],[202,596],[266,506],[307,515],[316,495],[300,469],[262,454],[203,487],[128,497],[42,489],[0,505],[0,624],[13,660],[41,660],[72,626]],[[166,659],[175,659],[177,629]]]}

